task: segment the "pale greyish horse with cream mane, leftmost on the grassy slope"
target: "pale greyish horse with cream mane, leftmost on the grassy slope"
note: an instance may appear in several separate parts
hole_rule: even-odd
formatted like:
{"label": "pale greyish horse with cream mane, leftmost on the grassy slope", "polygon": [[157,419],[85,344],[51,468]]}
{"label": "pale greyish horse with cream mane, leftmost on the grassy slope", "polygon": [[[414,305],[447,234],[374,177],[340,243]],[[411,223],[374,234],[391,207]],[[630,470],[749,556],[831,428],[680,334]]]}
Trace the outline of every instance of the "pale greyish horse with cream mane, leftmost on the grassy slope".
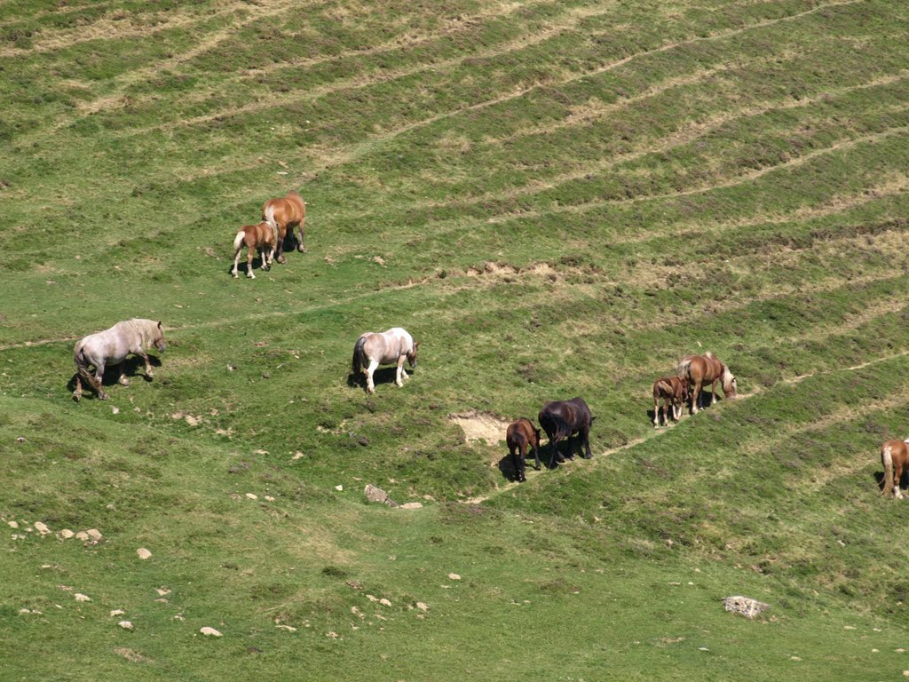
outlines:
{"label": "pale greyish horse with cream mane, leftmost on the grassy slope", "polygon": [[[75,345],[73,360],[75,361],[75,391],[73,399],[79,402],[82,397],[82,379],[88,386],[95,389],[98,397],[107,399],[101,380],[105,374],[105,364],[110,363],[118,367],[117,381],[124,386],[129,386],[129,380],[123,371],[126,356],[132,353],[145,360],[145,376],[152,378],[152,365],[145,355],[145,346],[155,344],[162,353],[165,350],[165,333],[160,322],[134,317],[125,322],[118,322],[110,329],[105,329],[97,334],[85,336]],[[89,366],[95,366],[95,375],[89,371]]]}

